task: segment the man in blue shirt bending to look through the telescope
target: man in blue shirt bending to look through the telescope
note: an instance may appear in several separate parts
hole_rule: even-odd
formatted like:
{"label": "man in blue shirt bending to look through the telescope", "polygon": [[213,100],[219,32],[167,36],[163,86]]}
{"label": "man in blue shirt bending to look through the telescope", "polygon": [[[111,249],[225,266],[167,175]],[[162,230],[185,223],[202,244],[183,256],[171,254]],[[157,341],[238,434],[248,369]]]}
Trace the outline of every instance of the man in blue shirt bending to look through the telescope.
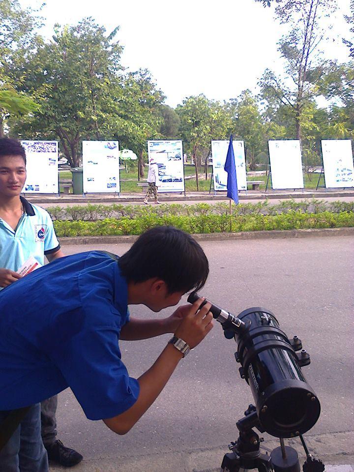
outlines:
{"label": "man in blue shirt bending to look through the telescope", "polygon": [[[2,290],[0,432],[10,411],[23,407],[38,410],[39,424],[38,403],[70,387],[89,419],[127,433],[213,325],[210,303],[199,310],[203,298],[160,320],[135,319],[128,305],[143,304],[155,313],[176,305],[183,294],[204,286],[208,271],[203,249],[191,236],[155,227],[120,258],[103,251],[63,257]],[[118,340],[165,333],[174,336],[155,363],[139,379],[129,377]],[[40,434],[35,441],[31,471],[46,472]],[[0,465],[9,454],[18,450],[5,445]]]}

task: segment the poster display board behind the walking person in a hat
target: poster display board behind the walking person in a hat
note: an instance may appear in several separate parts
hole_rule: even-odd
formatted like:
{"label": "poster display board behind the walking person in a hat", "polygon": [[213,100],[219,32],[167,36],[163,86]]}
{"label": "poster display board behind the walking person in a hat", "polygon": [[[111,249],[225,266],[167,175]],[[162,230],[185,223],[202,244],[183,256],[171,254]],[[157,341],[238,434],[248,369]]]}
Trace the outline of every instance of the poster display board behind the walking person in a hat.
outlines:
{"label": "poster display board behind the walking person in a hat", "polygon": [[159,192],[184,192],[182,141],[148,141],[148,161],[159,170]]}

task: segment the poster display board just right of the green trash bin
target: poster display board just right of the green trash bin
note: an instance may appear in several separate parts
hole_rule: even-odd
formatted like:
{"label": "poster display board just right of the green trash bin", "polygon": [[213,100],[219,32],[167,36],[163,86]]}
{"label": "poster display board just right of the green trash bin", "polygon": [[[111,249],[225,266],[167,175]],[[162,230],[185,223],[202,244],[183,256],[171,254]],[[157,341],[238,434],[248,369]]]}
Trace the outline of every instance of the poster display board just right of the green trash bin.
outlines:
{"label": "poster display board just right of the green trash bin", "polygon": [[84,193],[119,193],[118,141],[83,141]]}

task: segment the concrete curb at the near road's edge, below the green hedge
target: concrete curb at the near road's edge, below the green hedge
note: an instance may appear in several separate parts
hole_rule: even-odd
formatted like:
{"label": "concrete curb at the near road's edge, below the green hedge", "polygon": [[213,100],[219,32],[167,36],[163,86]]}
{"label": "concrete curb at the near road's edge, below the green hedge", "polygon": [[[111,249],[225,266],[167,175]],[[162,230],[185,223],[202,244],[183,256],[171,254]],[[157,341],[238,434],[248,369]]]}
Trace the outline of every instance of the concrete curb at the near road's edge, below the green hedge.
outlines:
{"label": "concrete curb at the near road's edge, below the green hedge", "polygon": [[[320,228],[305,230],[271,230],[271,231],[243,231],[240,233],[210,233],[192,235],[197,241],[227,241],[234,239],[284,239],[324,236],[354,236],[354,228]],[[84,245],[84,244],[124,244],[133,243],[139,236],[63,236],[60,244]]]}

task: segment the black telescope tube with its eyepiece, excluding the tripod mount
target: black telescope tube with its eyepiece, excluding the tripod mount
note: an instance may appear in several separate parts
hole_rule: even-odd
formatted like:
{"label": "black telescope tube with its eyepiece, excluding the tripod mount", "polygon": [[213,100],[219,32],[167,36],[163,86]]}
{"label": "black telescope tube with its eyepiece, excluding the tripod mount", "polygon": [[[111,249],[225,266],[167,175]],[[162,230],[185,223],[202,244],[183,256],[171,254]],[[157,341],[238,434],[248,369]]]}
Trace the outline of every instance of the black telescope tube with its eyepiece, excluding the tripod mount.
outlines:
{"label": "black telescope tube with its eyepiece, excluding the tripod mount", "polygon": [[[188,302],[198,298],[200,295],[191,293]],[[251,387],[263,431],[277,438],[291,438],[311,429],[321,406],[301,372],[301,367],[310,363],[310,356],[297,336],[290,340],[274,314],[265,308],[248,308],[238,317],[214,304],[210,311],[223,325],[225,337],[236,340],[239,372]]]}

